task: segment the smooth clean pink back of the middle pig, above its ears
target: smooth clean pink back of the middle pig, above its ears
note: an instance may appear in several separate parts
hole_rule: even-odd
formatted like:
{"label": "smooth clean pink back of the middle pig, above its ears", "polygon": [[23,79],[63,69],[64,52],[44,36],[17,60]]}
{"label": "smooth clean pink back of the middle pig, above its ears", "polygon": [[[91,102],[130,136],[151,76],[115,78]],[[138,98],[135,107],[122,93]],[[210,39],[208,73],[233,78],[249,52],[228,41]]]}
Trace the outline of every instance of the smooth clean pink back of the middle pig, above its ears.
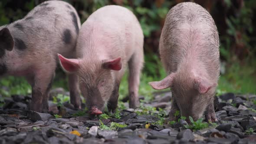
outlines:
{"label": "smooth clean pink back of the middle pig, above its ears", "polygon": [[77,55],[99,59],[121,56],[122,62],[127,62],[138,50],[138,45],[143,45],[143,38],[140,24],[130,10],[115,5],[105,6],[82,24]]}

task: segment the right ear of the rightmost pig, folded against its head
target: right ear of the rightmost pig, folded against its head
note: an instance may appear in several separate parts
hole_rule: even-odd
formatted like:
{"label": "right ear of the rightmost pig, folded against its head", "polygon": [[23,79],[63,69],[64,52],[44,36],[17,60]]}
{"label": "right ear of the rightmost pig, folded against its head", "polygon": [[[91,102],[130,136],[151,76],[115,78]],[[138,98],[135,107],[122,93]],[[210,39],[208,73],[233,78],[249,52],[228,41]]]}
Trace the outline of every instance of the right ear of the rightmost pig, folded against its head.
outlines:
{"label": "right ear of the rightmost pig, folded against its head", "polygon": [[216,83],[210,83],[207,79],[196,78],[194,81],[194,88],[198,90],[200,94],[207,93],[210,88],[217,86]]}

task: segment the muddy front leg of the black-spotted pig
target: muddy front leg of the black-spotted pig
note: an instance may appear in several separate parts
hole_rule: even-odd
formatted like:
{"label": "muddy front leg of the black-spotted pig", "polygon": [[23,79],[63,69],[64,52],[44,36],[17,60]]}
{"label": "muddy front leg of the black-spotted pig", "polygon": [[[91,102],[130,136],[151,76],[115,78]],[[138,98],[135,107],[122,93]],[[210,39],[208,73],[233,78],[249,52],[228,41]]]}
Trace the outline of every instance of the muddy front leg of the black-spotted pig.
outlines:
{"label": "muddy front leg of the black-spotted pig", "polygon": [[[50,89],[50,83],[53,79],[54,66],[44,65],[50,69],[39,69],[36,71],[34,82],[32,84],[32,101],[30,109],[37,112],[48,111],[48,92]],[[48,89],[48,90],[47,90]],[[48,91],[48,92],[47,92]]]}

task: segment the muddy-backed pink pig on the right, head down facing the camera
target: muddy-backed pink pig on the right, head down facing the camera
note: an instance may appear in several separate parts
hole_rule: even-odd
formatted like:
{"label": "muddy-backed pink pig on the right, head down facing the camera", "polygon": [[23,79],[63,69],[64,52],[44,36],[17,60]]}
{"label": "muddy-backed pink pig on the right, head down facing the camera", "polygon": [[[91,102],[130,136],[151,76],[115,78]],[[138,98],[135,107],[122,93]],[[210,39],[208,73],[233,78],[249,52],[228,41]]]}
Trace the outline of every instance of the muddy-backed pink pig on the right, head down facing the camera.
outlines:
{"label": "muddy-backed pink pig on the right, head down facing the camera", "polygon": [[155,89],[171,88],[171,120],[191,116],[216,121],[213,98],[220,75],[219,35],[210,13],[196,3],[174,6],[166,16],[159,42],[167,77],[150,82]]}

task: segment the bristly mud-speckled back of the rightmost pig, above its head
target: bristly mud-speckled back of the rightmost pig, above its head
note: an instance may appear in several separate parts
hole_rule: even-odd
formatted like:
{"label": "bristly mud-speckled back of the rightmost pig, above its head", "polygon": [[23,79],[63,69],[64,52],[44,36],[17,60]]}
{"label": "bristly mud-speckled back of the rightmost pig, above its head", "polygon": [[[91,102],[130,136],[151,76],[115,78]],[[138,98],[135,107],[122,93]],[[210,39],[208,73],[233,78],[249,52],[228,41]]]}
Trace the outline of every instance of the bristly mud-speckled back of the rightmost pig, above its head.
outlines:
{"label": "bristly mud-speckled back of the rightmost pig, above its head", "polygon": [[219,76],[219,36],[213,18],[196,3],[174,6],[166,16],[159,51],[167,73],[183,62],[200,62],[213,78]]}

